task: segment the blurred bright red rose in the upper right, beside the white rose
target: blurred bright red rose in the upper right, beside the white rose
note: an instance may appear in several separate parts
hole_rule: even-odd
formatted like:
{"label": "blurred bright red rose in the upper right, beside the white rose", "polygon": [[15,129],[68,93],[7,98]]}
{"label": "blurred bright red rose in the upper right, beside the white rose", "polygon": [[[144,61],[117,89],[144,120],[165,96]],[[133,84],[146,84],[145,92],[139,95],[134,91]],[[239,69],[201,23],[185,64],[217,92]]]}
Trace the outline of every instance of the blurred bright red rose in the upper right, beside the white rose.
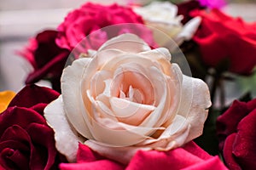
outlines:
{"label": "blurred bright red rose in the upper right, beside the white rose", "polygon": [[216,66],[224,59],[230,62],[229,71],[250,74],[256,65],[256,23],[247,24],[241,18],[232,18],[218,9],[193,11],[201,16],[201,27],[194,40],[201,49],[207,65]]}

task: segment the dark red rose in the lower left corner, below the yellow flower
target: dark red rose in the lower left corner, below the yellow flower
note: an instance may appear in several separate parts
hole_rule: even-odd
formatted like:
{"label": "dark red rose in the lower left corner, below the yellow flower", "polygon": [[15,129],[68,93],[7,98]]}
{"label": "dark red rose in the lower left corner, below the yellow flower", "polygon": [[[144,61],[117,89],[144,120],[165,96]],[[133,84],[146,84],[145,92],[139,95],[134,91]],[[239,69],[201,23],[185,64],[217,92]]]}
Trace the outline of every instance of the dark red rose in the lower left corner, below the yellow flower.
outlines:
{"label": "dark red rose in the lower left corner, below the yellow flower", "polygon": [[58,97],[49,88],[26,86],[0,114],[0,168],[53,169],[61,155],[53,130],[44,119],[44,107]]}

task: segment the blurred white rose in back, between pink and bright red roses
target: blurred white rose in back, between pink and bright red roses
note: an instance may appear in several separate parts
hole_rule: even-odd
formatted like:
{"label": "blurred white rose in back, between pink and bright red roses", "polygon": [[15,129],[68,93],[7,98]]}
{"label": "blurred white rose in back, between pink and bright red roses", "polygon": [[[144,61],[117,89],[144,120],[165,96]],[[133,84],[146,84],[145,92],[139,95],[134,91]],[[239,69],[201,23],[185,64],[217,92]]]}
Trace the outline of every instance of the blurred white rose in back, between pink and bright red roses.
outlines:
{"label": "blurred white rose in back, between pink and bright red roses", "polygon": [[[181,23],[183,16],[177,15],[177,6],[170,2],[153,2],[144,7],[136,7],[134,11],[142,15],[146,25],[153,26],[163,31],[171,37],[177,45],[180,45],[183,41],[190,40],[201,23],[201,18],[195,17],[183,26]],[[160,37],[160,32],[155,29],[153,31],[156,42],[158,42],[160,46],[165,45],[167,40]],[[172,49],[176,47],[177,46],[173,46]]]}

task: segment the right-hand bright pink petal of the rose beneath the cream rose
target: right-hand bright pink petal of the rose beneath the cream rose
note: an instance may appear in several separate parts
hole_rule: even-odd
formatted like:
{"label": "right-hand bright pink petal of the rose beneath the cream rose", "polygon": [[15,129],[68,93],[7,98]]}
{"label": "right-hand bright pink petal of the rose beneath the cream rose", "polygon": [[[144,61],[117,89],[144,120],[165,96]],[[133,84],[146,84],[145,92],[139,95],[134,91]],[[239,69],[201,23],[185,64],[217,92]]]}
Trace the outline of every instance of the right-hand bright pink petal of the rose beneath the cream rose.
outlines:
{"label": "right-hand bright pink petal of the rose beneath the cream rose", "polygon": [[[209,156],[204,150],[201,150],[196,144],[189,144],[190,150],[204,152],[202,155],[206,160],[190,153],[183,148],[160,152],[156,150],[137,151],[137,154],[131,159],[130,164],[126,167],[127,170],[133,169],[163,169],[168,170],[172,167],[173,170],[178,169],[224,169],[224,164],[218,159],[218,156]],[[188,149],[188,146],[187,146]],[[199,149],[199,150],[198,150]],[[198,154],[198,153],[197,153]],[[200,155],[200,154],[199,154]]]}

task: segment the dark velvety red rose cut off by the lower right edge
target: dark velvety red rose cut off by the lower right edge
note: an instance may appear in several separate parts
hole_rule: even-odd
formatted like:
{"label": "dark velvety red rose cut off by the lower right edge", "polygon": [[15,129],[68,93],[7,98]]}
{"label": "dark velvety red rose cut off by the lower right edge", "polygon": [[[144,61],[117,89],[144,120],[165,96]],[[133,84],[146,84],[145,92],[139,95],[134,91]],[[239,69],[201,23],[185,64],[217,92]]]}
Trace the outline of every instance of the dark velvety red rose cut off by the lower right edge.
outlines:
{"label": "dark velvety red rose cut off by the lower right edge", "polygon": [[256,167],[256,99],[233,105],[217,119],[219,148],[230,169]]}

